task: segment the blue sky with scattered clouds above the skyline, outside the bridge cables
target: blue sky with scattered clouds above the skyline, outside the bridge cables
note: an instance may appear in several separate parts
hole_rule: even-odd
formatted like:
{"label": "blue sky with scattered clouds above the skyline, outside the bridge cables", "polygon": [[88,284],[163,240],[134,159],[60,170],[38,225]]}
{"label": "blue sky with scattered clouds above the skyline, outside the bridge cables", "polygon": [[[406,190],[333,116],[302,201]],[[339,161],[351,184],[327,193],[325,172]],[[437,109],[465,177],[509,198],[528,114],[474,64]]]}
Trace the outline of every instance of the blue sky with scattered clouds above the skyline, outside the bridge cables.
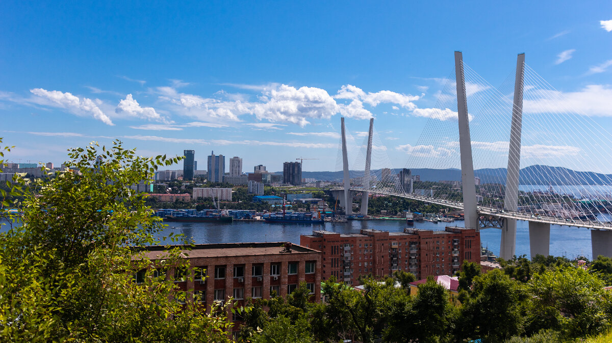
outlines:
{"label": "blue sky with scattered clouds above the skyline, outside the bridge cables", "polygon": [[0,32],[0,137],[15,162],[59,164],[117,138],[143,155],[193,149],[200,165],[214,150],[244,171],[300,156],[336,170],[344,115],[357,136],[374,117],[403,167],[455,50],[495,86],[525,52],[612,131],[608,1],[3,1]]}

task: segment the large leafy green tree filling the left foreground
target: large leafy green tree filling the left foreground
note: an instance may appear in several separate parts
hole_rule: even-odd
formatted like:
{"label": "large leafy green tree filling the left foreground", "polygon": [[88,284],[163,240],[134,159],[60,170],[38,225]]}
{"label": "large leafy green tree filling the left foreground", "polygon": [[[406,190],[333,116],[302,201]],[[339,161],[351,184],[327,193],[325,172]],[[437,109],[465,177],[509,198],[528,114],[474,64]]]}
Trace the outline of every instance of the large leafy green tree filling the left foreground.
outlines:
{"label": "large leafy green tree filling the left foreground", "polygon": [[[135,248],[157,244],[161,223],[129,186],[179,159],[118,141],[69,157],[54,178],[17,180],[23,215],[10,219],[21,225],[0,234],[0,341],[230,341],[225,307],[183,305],[190,295]],[[188,267],[177,249],[166,254],[155,267]]]}

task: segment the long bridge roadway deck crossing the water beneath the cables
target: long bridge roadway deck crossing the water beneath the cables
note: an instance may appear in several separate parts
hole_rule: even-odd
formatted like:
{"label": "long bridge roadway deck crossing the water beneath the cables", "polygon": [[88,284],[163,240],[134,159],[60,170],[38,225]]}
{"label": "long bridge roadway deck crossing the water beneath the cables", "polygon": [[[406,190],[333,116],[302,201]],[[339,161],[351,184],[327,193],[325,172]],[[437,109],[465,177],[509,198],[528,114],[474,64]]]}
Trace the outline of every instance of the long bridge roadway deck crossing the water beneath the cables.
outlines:
{"label": "long bridge roadway deck crossing the water beneath the cables", "polygon": [[[337,189],[332,189],[332,190],[344,190],[344,189],[337,188]],[[351,187],[351,191],[353,192],[367,191],[369,193],[392,195],[394,197],[418,200],[418,201],[423,201],[425,203],[447,206],[449,208],[463,209],[463,203],[460,203],[458,201],[449,201],[449,200],[443,200],[443,199],[438,199],[438,198],[433,198],[433,197],[425,197],[424,195],[416,195],[414,193],[398,193],[391,189],[365,190],[359,187]],[[542,217],[542,216],[535,217],[533,215],[524,214],[521,212],[499,211],[498,209],[488,208],[486,206],[478,206],[478,214],[483,215],[483,216],[509,218],[509,219],[512,218],[512,219],[517,219],[517,220],[525,220],[527,222],[536,222],[536,223],[544,223],[544,224],[551,224],[551,225],[565,225],[565,226],[575,226],[577,228],[612,230],[612,223],[610,222],[589,222],[588,220],[576,220],[576,219],[570,219],[568,221],[562,218],[554,218],[554,217]]]}

